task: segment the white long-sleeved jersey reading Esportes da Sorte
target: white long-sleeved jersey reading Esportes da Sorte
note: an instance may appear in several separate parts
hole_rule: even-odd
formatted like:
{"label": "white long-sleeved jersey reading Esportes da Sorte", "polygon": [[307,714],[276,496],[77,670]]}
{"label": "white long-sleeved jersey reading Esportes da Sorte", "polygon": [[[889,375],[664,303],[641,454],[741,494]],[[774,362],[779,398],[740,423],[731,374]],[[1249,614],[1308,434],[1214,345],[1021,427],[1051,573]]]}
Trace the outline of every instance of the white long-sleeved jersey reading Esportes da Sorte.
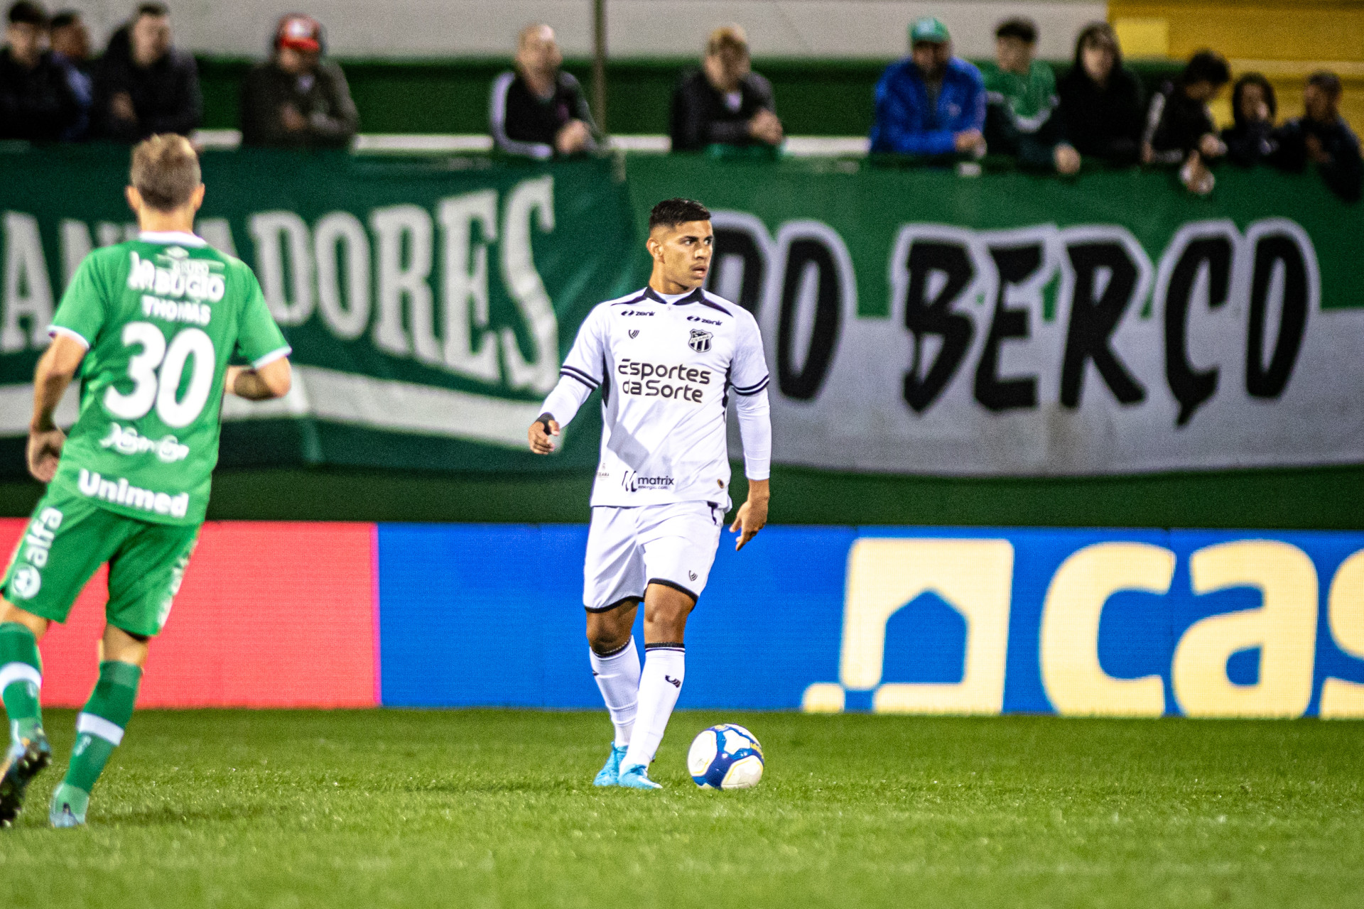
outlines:
{"label": "white long-sleeved jersey reading Esportes da Sorte", "polygon": [[[592,506],[730,506],[726,410],[739,407],[745,473],[768,478],[768,368],[758,324],[697,288],[668,303],[653,289],[588,313],[544,413],[561,425],[602,388],[602,459]],[[753,448],[750,451],[750,448]]]}

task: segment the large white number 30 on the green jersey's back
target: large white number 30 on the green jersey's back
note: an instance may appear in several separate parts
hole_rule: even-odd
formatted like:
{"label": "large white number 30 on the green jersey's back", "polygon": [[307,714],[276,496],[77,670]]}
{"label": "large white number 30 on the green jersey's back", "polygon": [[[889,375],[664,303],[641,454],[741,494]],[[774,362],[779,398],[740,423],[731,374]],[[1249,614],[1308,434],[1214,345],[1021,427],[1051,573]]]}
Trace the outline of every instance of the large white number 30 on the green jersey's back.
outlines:
{"label": "large white number 30 on the green jersey's back", "polygon": [[[123,394],[115,387],[104,392],[104,406],[116,417],[140,420],[154,406],[161,422],[180,429],[194,422],[213,390],[217,357],[213,339],[199,328],[184,328],[166,346],[161,328],[150,322],[130,322],[123,326],[123,346],[138,345],[140,353],[128,360],[132,391]],[[180,379],[186,361],[194,357],[190,387],[179,398]]]}

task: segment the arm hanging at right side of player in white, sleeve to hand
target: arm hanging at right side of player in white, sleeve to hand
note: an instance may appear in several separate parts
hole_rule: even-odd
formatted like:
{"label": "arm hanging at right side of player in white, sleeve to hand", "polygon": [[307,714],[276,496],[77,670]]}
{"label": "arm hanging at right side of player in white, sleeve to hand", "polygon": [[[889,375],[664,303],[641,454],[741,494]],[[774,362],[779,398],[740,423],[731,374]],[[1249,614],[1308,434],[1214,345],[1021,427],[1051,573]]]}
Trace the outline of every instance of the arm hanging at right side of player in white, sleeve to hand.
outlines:
{"label": "arm hanging at right side of player in white, sleeve to hand", "polygon": [[743,476],[749,478],[749,497],[739,506],[730,526],[739,534],[735,551],[742,549],[767,525],[768,502],[772,499],[772,417],[768,403],[768,372],[762,357],[762,339],[757,324],[741,335],[734,357],[734,412],[739,418],[743,443]]}

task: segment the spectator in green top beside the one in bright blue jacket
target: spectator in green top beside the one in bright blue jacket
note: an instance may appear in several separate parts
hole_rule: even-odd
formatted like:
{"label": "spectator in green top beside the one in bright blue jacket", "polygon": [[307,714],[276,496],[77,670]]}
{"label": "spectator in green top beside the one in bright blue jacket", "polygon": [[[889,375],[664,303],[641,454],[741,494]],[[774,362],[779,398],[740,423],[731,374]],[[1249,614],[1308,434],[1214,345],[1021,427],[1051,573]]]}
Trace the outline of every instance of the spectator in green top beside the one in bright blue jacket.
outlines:
{"label": "spectator in green top beside the one in bright blue jacket", "polygon": [[1061,134],[1056,75],[1033,57],[1037,26],[1007,19],[994,30],[996,63],[981,67],[985,79],[985,144],[990,154],[1018,158],[1027,168],[1072,174],[1080,155]]}

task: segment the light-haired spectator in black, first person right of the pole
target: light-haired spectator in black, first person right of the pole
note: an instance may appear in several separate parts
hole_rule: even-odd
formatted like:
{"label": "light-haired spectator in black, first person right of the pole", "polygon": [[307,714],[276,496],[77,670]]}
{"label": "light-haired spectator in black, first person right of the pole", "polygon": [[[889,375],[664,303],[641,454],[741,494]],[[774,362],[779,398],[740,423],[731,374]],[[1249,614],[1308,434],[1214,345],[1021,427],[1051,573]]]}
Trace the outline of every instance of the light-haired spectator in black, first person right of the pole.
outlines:
{"label": "light-haired spectator in black, first person right of the pole", "polygon": [[772,83],[752,71],[742,27],[712,31],[701,68],[682,74],[672,90],[671,135],[674,151],[782,144]]}

